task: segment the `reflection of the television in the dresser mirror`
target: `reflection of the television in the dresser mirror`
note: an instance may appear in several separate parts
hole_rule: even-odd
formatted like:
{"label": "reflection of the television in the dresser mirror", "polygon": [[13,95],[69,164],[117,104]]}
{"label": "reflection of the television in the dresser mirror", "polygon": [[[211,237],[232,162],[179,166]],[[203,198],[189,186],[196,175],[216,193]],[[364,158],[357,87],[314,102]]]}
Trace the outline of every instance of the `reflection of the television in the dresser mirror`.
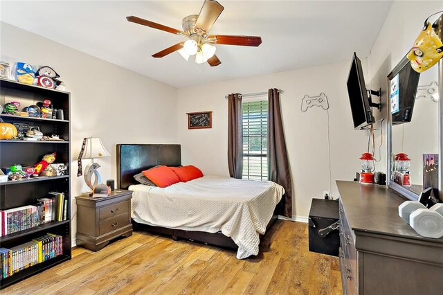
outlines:
{"label": "reflection of the television in the dresser mirror", "polygon": [[407,123],[413,118],[419,78],[420,73],[413,70],[406,56],[388,75],[388,99],[392,125]]}

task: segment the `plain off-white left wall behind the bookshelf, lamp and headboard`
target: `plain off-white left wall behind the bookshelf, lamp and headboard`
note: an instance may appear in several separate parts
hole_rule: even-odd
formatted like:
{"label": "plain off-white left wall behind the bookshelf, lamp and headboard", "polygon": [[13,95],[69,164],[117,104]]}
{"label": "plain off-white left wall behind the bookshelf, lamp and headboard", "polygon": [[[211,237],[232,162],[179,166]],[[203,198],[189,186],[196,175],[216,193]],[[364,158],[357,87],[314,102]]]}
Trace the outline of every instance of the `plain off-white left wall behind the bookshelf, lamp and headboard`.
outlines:
{"label": "plain off-white left wall behind the bookshelf, lamp and headboard", "polygon": [[[100,137],[112,155],[96,160],[104,181],[116,179],[117,143],[177,143],[177,89],[15,26],[0,25],[1,59],[52,66],[71,92],[72,196],[88,189],[77,177],[76,158],[84,137]],[[75,238],[75,199],[72,204]]]}

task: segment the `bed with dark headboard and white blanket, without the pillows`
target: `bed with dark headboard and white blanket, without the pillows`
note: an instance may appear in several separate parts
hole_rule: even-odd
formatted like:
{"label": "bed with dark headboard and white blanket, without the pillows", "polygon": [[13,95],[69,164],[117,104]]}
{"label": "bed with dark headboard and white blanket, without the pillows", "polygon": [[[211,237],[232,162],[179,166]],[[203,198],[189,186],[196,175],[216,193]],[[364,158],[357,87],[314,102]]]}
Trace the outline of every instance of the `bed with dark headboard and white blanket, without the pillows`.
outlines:
{"label": "bed with dark headboard and white blanket, without the pillows", "polygon": [[236,249],[239,259],[257,255],[259,233],[276,220],[281,186],[210,176],[168,188],[135,181],[134,175],[157,165],[181,166],[180,145],[117,145],[117,185],[133,191],[135,229]]}

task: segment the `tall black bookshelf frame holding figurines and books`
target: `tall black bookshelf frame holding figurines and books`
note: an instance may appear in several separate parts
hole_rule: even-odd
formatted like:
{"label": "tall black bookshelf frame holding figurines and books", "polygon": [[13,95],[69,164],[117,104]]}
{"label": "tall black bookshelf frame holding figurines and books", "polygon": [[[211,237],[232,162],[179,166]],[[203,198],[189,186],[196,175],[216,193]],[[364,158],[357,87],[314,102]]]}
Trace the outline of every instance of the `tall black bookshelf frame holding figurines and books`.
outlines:
{"label": "tall black bookshelf frame holding figurines and books", "polygon": [[[65,163],[68,166],[66,173],[70,172],[70,93],[0,79],[1,105],[11,101],[19,101],[21,107],[27,107],[28,105],[36,105],[37,102],[44,99],[51,100],[54,109],[63,109],[64,120],[7,114],[0,114],[0,118],[8,123],[28,123],[30,126],[39,127],[45,135],[59,134],[63,141],[1,140],[0,168],[8,168],[14,164],[21,164],[24,167],[34,166],[35,163],[42,160],[45,154],[56,152],[55,162]],[[0,237],[0,247],[9,249],[30,242],[34,238],[46,235],[46,233],[54,233],[63,237],[62,255],[18,271],[8,278],[3,278],[0,280],[0,289],[71,259],[71,175],[35,177],[0,183],[0,210],[35,205],[37,199],[46,197],[46,194],[51,191],[69,196],[68,220],[48,222],[31,229],[3,235]]]}

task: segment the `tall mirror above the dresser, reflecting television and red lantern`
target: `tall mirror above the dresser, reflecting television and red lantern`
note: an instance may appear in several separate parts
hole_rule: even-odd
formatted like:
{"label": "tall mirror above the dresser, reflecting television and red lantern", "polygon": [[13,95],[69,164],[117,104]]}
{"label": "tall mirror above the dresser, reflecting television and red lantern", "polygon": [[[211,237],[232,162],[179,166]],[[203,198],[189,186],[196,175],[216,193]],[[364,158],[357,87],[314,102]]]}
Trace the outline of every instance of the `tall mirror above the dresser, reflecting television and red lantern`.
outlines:
{"label": "tall mirror above the dresser, reflecting television and red lantern", "polygon": [[[436,33],[443,39],[443,15],[436,24]],[[413,200],[417,200],[424,188],[432,187],[434,196],[443,202],[443,169],[440,164],[443,150],[443,59],[419,77],[414,71],[404,71],[407,64],[405,57],[388,75],[387,81],[388,186]],[[400,94],[395,93],[396,89]],[[409,90],[405,92],[405,89]],[[415,100],[407,101],[407,97],[413,97],[405,95],[410,89],[417,89],[417,94]],[[401,112],[397,110],[401,109],[401,103],[412,105],[413,111],[405,111],[399,118]],[[408,117],[408,114],[412,116]]]}

